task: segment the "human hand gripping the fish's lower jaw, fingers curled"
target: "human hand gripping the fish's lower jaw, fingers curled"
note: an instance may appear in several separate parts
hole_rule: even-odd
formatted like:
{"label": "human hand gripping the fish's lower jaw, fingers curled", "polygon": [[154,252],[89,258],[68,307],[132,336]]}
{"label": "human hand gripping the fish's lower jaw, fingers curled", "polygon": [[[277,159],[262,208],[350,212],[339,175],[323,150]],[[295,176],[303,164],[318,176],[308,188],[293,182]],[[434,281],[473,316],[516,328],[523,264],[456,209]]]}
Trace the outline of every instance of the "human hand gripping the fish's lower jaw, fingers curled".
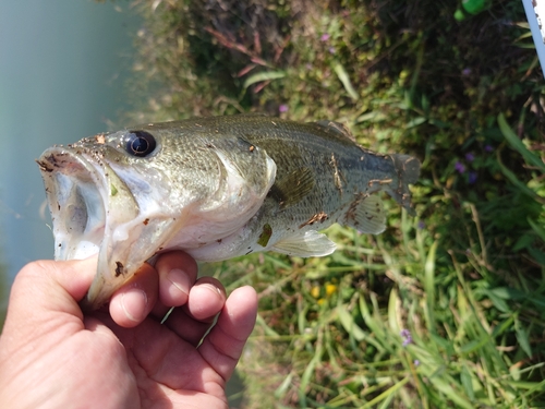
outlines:
{"label": "human hand gripping the fish's lower jaw, fingers curled", "polygon": [[172,252],[144,265],[109,313],[83,314],[95,270],[89,258],[20,272],[0,336],[0,407],[228,408],[226,382],[255,324],[254,289],[226,301],[219,281],[195,282],[193,258]]}

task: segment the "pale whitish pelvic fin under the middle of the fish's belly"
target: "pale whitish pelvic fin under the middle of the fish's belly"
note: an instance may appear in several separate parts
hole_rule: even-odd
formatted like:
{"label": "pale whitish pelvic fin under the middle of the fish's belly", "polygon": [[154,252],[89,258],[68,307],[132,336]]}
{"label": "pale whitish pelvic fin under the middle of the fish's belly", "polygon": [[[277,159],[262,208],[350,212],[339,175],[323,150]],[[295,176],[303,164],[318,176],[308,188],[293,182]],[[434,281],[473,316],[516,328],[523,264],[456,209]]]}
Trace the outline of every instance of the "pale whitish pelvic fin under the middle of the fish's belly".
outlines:
{"label": "pale whitish pelvic fin under the middle of the fish's belly", "polygon": [[278,241],[270,250],[300,257],[319,257],[331,254],[336,248],[337,245],[326,234],[307,230]]}

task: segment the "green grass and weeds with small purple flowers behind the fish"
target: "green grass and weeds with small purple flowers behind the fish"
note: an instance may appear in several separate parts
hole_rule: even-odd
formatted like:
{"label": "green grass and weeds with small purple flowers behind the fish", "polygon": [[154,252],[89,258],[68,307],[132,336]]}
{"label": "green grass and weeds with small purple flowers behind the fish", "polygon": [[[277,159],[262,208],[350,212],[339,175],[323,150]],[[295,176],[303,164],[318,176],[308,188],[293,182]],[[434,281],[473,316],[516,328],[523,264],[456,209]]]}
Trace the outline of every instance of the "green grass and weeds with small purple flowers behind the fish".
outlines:
{"label": "green grass and weeds with small purple flowers behind the fish", "polygon": [[259,293],[244,408],[545,407],[544,79],[520,0],[133,0],[134,113],[346,123],[422,161],[417,217],[324,258],[207,267]]}

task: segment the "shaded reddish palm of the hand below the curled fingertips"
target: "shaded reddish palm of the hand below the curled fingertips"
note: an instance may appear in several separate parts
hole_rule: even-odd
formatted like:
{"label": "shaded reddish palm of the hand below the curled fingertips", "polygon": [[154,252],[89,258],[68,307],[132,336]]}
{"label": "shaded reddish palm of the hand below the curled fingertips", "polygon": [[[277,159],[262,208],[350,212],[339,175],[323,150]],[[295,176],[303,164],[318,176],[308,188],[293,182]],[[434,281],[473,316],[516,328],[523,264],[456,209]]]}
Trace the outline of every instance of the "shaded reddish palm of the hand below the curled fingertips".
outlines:
{"label": "shaded reddish palm of the hand below the curled fingertips", "polygon": [[[228,300],[231,316],[242,292]],[[235,314],[234,314],[235,315]],[[238,362],[244,339],[237,339],[241,324],[228,314],[196,348],[208,325],[193,322],[184,311],[174,311],[161,325],[147,318],[135,328],[112,327],[126,351],[129,370],[134,375],[141,407],[227,408],[225,387]],[[191,332],[177,334],[177,326]],[[123,363],[124,363],[123,362]]]}

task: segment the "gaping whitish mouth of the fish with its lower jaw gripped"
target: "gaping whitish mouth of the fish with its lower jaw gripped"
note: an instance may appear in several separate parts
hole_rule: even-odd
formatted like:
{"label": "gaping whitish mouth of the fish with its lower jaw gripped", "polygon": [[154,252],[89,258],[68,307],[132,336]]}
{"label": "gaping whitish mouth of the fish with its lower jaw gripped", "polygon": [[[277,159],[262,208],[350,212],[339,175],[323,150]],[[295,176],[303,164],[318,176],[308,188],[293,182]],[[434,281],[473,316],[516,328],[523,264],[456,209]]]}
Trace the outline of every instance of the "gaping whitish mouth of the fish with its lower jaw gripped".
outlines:
{"label": "gaping whitish mouth of the fish with its lower jaw gripped", "polygon": [[[37,160],[46,188],[56,260],[82,260],[98,253],[97,274],[84,303],[96,309],[125,277],[126,240],[138,219],[138,204],[126,184],[97,153],[53,146]],[[138,261],[143,263],[144,261]]]}

